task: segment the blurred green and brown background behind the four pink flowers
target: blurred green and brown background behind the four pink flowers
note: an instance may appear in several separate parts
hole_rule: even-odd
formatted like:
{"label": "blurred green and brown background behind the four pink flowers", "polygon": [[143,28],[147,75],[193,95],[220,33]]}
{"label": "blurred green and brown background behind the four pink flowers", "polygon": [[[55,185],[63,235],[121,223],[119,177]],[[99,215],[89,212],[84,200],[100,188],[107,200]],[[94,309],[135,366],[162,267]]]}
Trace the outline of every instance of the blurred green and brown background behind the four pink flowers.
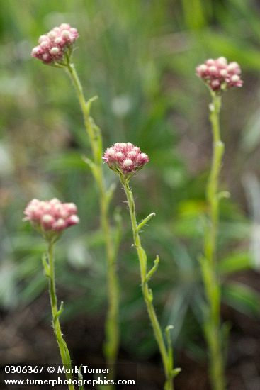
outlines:
{"label": "blurred green and brown background behind the four pink flowers", "polygon": [[[30,57],[38,36],[71,23],[74,63],[104,147],[130,141],[150,157],[132,179],[152,264],[154,304],[174,324],[176,389],[209,389],[202,333],[205,184],[211,155],[210,96],[196,65],[224,55],[244,86],[223,99],[225,161],[218,247],[222,318],[230,323],[228,389],[260,389],[260,4],[257,0],[6,0],[0,9],[0,363],[59,362],[41,256],[45,243],[23,223],[30,199],[74,201],[81,224],[57,244],[62,328],[77,364],[103,364],[106,260],[81,111],[62,69]],[[117,177],[107,167],[108,182]],[[119,360],[138,364],[138,389],[162,389],[163,374],[140,290],[125,196],[118,184],[111,221],[123,218]],[[126,289],[125,286],[128,286]],[[126,375],[127,376],[127,375]],[[129,379],[129,378],[128,378]],[[35,388],[36,389],[36,388]],[[38,389],[38,388],[37,388]]]}

